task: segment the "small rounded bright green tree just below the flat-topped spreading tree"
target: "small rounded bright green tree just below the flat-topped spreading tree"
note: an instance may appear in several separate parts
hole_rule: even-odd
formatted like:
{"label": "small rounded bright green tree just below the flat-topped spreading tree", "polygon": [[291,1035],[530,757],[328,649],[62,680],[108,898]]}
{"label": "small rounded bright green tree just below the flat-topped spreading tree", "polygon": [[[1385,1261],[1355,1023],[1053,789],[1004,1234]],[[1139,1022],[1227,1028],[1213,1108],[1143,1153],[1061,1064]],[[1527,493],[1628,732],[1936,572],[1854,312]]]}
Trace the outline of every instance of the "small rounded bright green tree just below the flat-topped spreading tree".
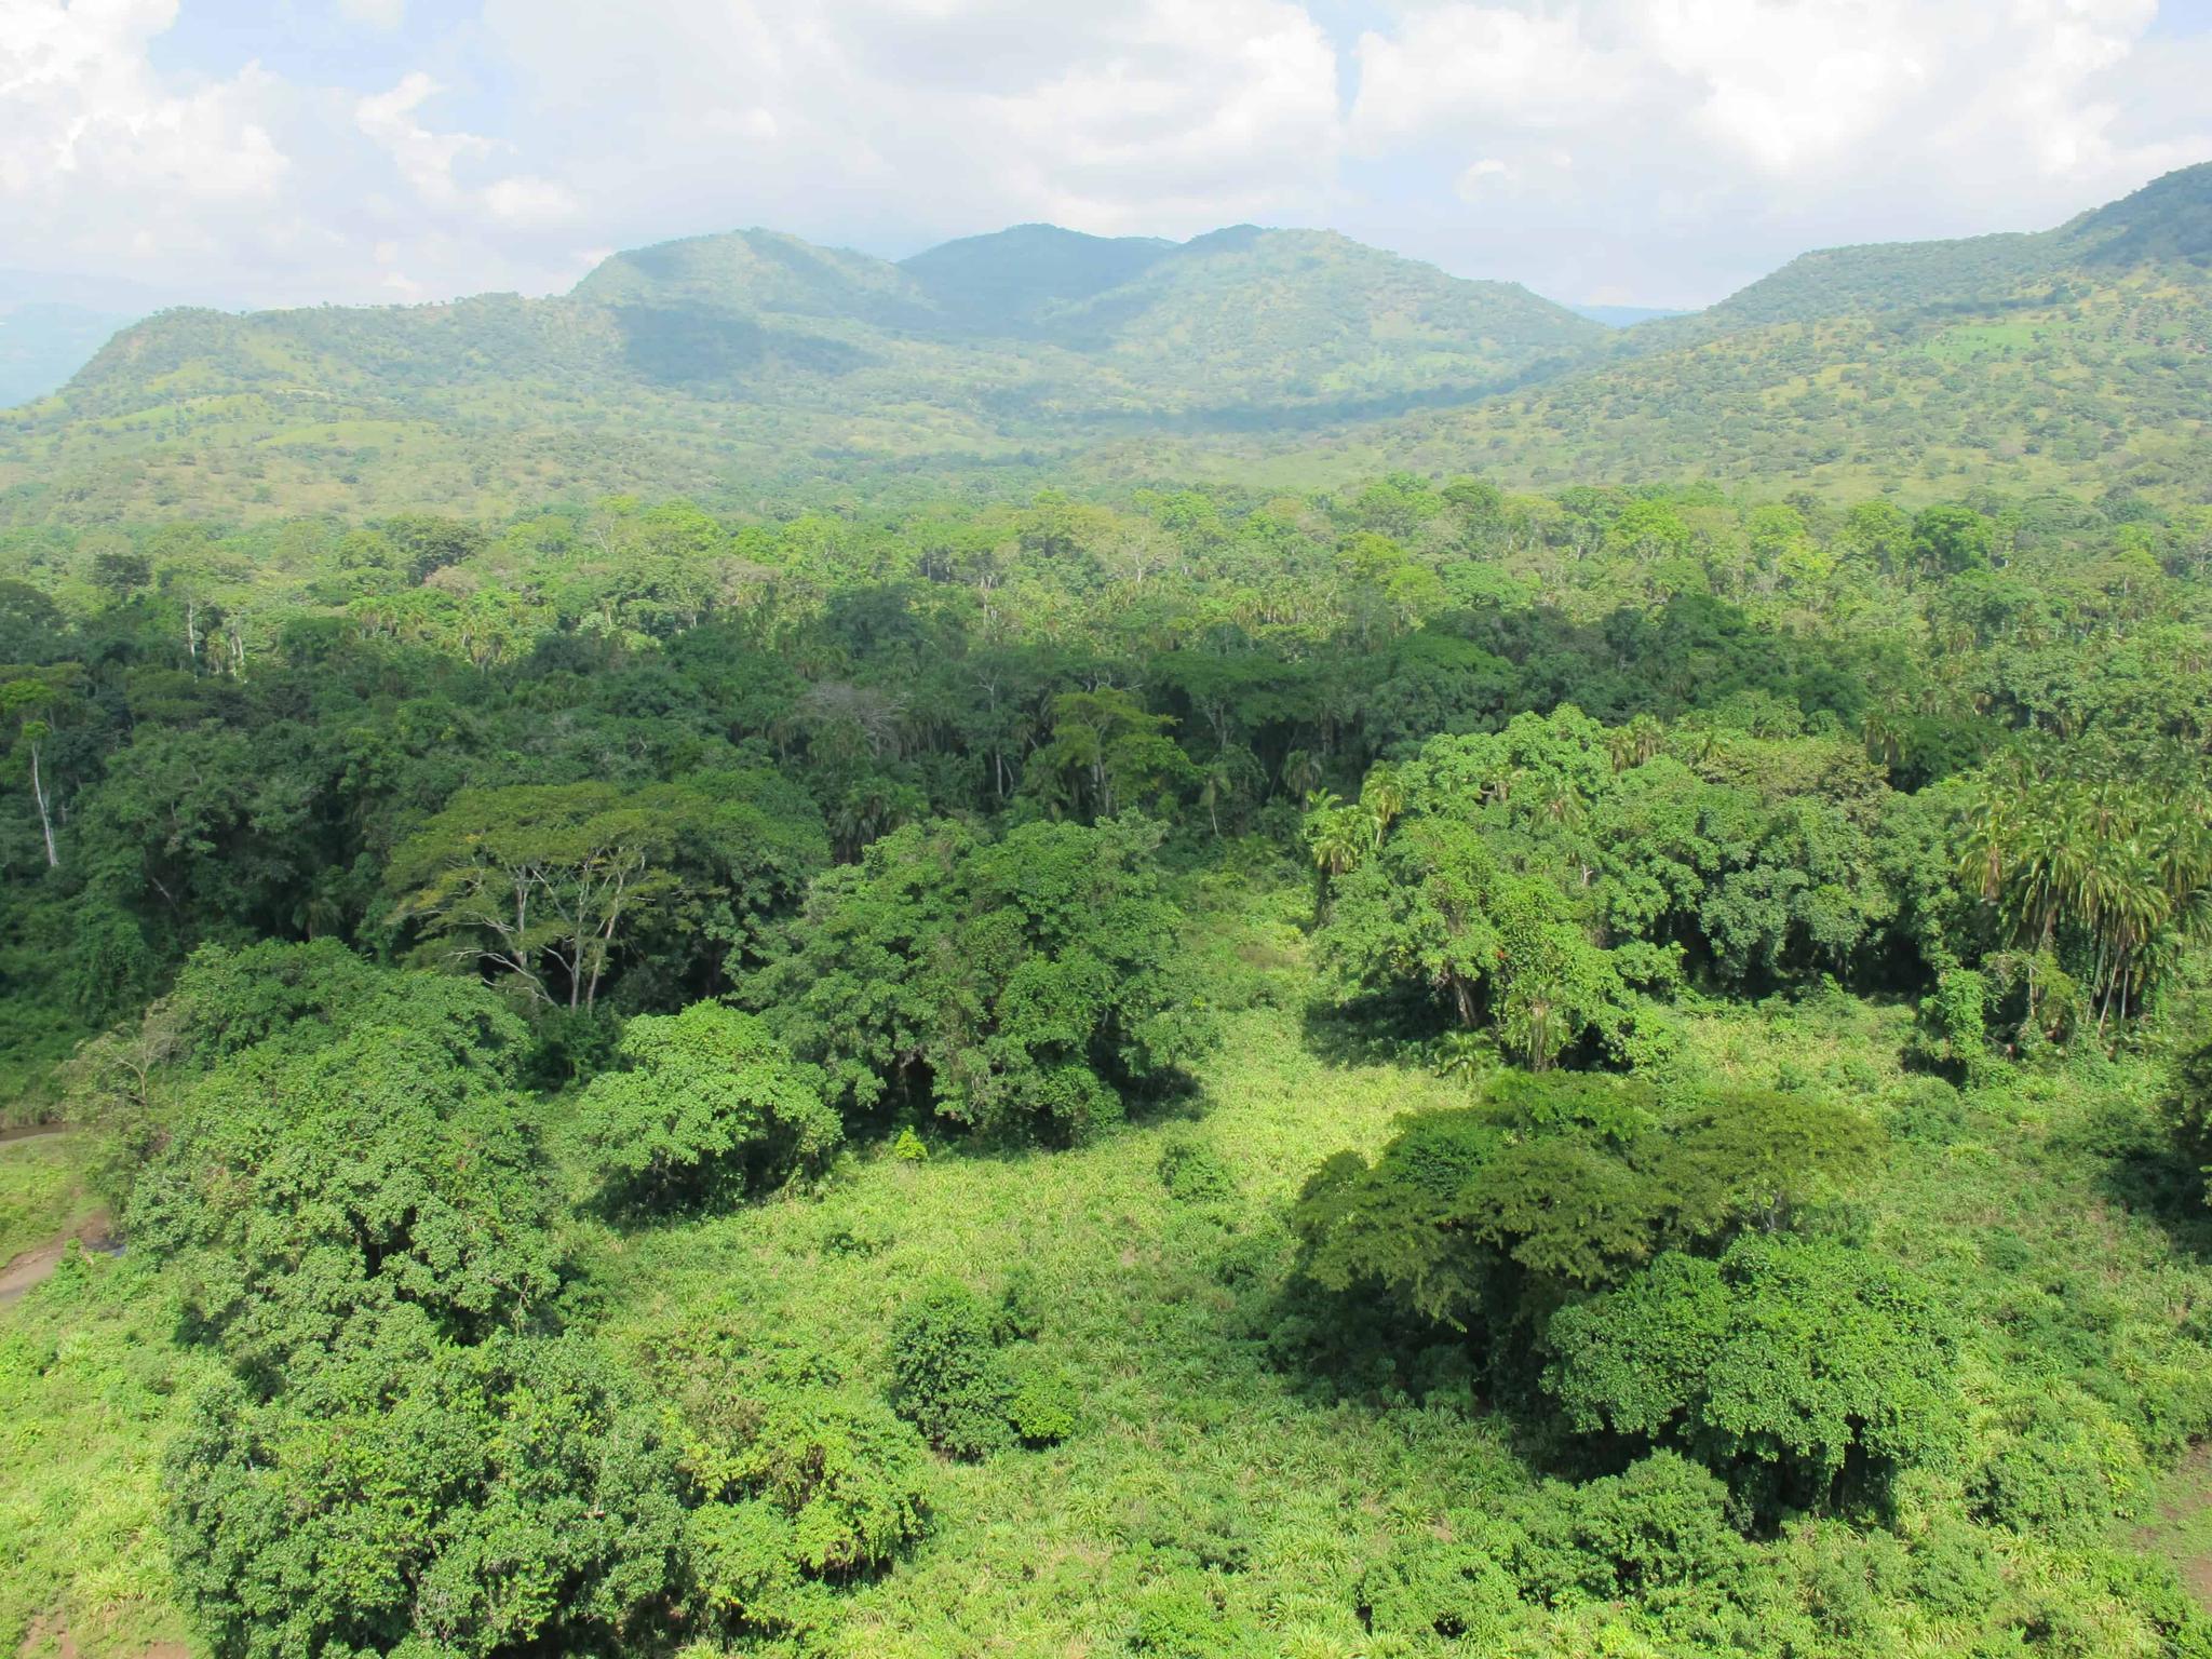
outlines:
{"label": "small rounded bright green tree just below the flat-topped spreading tree", "polygon": [[622,1029],[615,1071],[577,1102],[577,1135],[611,1197],[666,1199],[748,1168],[814,1170],[843,1137],[821,1077],[759,1015],[721,1002],[641,1013]]}

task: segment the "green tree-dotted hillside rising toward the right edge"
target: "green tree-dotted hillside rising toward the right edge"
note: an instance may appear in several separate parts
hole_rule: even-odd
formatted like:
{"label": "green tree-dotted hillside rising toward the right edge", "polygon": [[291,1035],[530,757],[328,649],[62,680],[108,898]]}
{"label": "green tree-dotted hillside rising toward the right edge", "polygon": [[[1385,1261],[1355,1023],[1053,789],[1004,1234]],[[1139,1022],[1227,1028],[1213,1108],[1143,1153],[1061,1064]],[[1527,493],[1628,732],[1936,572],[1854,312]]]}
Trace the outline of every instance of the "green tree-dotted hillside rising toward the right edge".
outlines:
{"label": "green tree-dotted hillside rising toward the right edge", "polygon": [[[2201,498],[2212,164],[2037,234],[1834,248],[1624,356],[1360,442],[1502,476]],[[1453,462],[1455,465],[1455,462]]]}

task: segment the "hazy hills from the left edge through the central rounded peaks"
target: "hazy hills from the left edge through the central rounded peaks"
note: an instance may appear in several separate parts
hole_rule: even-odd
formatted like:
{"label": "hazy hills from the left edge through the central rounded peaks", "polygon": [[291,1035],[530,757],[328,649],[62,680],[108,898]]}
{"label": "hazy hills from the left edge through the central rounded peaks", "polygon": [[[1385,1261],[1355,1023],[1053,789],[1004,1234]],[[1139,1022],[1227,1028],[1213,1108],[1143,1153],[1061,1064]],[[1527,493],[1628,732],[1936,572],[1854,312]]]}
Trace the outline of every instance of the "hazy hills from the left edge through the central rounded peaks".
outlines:
{"label": "hazy hills from the left edge through the central rounded peaks", "polygon": [[164,312],[15,416],[0,489],[18,520],[714,493],[1301,431],[1606,349],[1524,288],[1329,232],[1026,226],[894,265],[745,230],[617,254],[557,299]]}

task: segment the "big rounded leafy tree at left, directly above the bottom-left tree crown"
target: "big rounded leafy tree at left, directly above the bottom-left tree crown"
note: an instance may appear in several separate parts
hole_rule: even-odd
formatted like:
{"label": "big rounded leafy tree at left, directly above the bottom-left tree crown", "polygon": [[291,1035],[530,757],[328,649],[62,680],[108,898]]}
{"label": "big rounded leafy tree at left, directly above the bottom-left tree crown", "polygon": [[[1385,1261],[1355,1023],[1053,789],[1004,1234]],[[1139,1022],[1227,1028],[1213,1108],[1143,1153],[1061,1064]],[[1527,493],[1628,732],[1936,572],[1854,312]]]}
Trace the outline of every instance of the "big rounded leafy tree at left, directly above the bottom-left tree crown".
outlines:
{"label": "big rounded leafy tree at left, directly above the bottom-left tree crown", "polygon": [[133,1245],[175,1263],[192,1321],[263,1385],[396,1310],[456,1340],[524,1329],[557,1285],[509,1057],[434,1020],[347,1026],[199,1077],[124,1212]]}

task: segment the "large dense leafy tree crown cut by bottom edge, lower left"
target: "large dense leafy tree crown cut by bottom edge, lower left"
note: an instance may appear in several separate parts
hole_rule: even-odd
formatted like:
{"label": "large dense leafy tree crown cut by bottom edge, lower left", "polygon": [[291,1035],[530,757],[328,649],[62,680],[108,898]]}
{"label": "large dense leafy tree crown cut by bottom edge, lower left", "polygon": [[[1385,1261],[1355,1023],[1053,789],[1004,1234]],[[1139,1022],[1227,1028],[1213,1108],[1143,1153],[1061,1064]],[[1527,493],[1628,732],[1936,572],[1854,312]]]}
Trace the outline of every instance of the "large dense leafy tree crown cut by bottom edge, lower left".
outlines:
{"label": "large dense leafy tree crown cut by bottom edge, lower left", "polygon": [[686,1551],[666,1447],[575,1338],[389,1321],[274,1402],[197,1396],[166,1482],[179,1595],[246,1659],[626,1652]]}

